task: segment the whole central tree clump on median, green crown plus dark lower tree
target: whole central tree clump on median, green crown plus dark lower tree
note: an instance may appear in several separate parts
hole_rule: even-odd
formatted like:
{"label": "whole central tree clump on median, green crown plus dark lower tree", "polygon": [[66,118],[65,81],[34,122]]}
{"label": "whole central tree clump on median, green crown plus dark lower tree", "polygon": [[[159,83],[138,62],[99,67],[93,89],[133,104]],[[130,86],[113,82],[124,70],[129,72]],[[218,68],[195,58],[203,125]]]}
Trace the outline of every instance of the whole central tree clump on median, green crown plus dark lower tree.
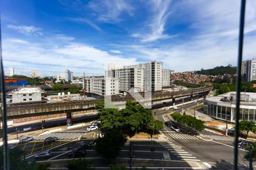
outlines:
{"label": "whole central tree clump on median, green crown plus dark lower tree", "polygon": [[[107,103],[108,105],[108,103]],[[145,109],[135,101],[127,101],[125,109],[104,108],[103,102],[96,103],[100,116],[103,138],[96,139],[96,150],[109,160],[118,155],[119,150],[127,141],[127,135],[134,135],[138,131],[151,133],[163,128],[163,122],[154,121],[150,109]]]}

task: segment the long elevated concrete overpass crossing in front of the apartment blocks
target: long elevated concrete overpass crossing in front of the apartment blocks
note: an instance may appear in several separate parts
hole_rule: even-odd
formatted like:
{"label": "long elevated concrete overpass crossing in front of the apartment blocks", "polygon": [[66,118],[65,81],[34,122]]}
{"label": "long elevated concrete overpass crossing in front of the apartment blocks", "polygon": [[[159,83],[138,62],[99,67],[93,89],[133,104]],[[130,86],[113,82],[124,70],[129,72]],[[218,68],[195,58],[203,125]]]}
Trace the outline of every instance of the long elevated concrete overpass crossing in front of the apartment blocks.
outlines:
{"label": "long elevated concrete overpass crossing in front of the apartment blocks", "polygon": [[[152,92],[152,101],[161,101],[172,99],[175,103],[175,99],[178,97],[192,96],[196,94],[201,94],[206,96],[212,87],[201,87],[193,88],[186,91],[176,91],[176,92]],[[142,94],[143,95],[143,94]],[[102,99],[103,100],[103,97]],[[114,104],[124,104],[128,100],[134,100],[131,96],[119,97],[113,96],[112,101]],[[67,113],[67,117],[71,116],[72,112],[85,111],[95,108],[95,103],[97,100],[86,100],[86,101],[69,101],[62,103],[40,103],[40,104],[22,104],[22,105],[9,105],[7,108],[7,118],[22,118],[31,116],[40,116],[46,114],[56,114],[56,113]],[[99,101],[99,100],[98,100]]]}

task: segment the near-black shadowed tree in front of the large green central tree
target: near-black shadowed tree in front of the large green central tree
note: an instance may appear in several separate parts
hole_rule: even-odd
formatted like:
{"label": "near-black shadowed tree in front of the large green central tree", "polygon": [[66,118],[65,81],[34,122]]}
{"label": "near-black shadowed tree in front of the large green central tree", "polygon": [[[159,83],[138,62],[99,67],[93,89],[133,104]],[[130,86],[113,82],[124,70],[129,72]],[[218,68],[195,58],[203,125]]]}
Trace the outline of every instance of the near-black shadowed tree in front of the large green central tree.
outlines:
{"label": "near-black shadowed tree in front of the large green central tree", "polygon": [[111,161],[118,155],[126,141],[125,134],[118,129],[111,129],[105,131],[104,137],[96,139],[96,151]]}

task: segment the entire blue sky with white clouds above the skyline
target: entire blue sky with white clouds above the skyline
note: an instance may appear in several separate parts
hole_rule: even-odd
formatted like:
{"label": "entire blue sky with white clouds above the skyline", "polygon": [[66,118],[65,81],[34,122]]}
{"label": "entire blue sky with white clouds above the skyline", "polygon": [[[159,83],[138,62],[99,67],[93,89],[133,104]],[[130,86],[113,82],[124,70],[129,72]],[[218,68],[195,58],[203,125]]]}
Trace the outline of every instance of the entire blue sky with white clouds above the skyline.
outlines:
{"label": "entire blue sky with white clouds above the skyline", "polygon": [[[99,75],[112,63],[164,69],[236,65],[240,1],[1,1],[5,70]],[[247,1],[244,58],[256,58],[256,1]]]}

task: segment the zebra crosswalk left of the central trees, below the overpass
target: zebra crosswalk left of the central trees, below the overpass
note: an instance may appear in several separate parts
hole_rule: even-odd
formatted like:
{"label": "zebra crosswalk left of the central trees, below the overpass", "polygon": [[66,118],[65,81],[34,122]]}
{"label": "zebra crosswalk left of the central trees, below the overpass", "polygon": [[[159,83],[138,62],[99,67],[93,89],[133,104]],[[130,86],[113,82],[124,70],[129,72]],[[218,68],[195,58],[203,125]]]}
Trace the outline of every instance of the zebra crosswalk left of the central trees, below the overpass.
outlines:
{"label": "zebra crosswalk left of the central trees, below the overpass", "polygon": [[47,134],[35,137],[35,140],[44,140],[47,137],[52,137],[52,136],[55,136],[59,139],[77,139],[82,135],[84,135],[84,133],[47,133]]}

